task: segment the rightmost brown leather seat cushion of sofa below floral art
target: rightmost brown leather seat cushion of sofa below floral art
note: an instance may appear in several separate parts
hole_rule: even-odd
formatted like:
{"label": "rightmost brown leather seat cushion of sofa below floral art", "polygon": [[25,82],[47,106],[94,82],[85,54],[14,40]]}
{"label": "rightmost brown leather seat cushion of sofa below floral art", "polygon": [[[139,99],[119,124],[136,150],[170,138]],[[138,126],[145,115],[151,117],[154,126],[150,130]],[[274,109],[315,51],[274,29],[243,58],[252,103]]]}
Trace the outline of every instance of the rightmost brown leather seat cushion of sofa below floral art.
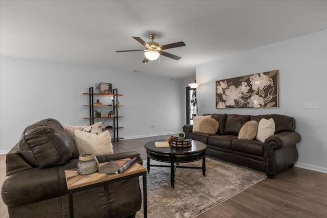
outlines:
{"label": "rightmost brown leather seat cushion of sofa below floral art", "polygon": [[258,140],[235,139],[231,141],[231,149],[246,154],[263,156],[264,143]]}

